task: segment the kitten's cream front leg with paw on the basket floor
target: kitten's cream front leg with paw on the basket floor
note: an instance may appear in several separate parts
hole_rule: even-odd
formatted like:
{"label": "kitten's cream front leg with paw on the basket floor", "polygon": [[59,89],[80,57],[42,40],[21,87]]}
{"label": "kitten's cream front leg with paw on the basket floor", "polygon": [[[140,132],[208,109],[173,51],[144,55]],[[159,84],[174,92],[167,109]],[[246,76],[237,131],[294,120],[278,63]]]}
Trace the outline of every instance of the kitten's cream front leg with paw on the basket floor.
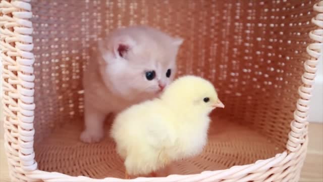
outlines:
{"label": "kitten's cream front leg with paw on the basket floor", "polygon": [[85,143],[99,142],[104,136],[105,114],[92,108],[85,107],[85,129],[80,135],[80,140]]}

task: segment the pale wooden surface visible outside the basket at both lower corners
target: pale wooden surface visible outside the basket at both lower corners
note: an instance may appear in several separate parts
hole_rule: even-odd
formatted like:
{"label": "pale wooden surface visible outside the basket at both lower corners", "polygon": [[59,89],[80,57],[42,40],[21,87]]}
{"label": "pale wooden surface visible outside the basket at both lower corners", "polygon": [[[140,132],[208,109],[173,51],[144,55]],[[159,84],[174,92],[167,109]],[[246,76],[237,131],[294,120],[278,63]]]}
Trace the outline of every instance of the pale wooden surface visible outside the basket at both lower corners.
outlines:
{"label": "pale wooden surface visible outside the basket at both lower corners", "polygon": [[[2,114],[1,114],[2,116]],[[0,125],[0,181],[10,181],[7,157],[4,149],[3,121]],[[300,181],[323,181],[323,124],[309,125],[309,144]]]}

